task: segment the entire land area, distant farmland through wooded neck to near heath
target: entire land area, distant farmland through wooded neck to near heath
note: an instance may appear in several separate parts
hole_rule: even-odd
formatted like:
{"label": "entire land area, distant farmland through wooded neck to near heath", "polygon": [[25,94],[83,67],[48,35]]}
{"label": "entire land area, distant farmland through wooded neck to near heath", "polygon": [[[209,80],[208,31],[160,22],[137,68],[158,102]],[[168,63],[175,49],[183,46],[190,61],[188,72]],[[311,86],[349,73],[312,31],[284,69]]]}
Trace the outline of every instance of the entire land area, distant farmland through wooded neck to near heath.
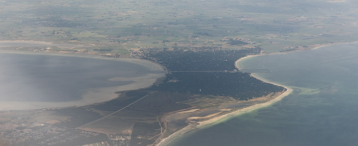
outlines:
{"label": "entire land area, distant farmland through wooded neck to near heath", "polygon": [[[0,50],[135,57],[169,71],[224,71],[175,72],[148,88],[117,92],[118,98],[104,103],[0,111],[0,137],[6,137],[0,145],[21,138],[35,145],[46,140],[48,145],[63,144],[60,140],[157,144],[189,123],[267,102],[285,91],[238,73],[237,59],[358,40],[354,1],[32,0],[0,5]],[[49,134],[17,135],[29,131]]]}

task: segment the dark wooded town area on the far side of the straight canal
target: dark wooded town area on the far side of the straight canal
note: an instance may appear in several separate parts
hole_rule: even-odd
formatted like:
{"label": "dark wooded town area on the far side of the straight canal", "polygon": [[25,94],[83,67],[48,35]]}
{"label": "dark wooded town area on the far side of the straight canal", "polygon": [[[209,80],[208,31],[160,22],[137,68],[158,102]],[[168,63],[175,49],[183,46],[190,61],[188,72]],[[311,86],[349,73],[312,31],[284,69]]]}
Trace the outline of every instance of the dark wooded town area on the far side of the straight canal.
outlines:
{"label": "dark wooded town area on the far side of the straight canal", "polygon": [[235,61],[248,55],[256,55],[261,48],[247,50],[220,51],[152,51],[144,55],[145,59],[158,62],[169,70],[234,70]]}

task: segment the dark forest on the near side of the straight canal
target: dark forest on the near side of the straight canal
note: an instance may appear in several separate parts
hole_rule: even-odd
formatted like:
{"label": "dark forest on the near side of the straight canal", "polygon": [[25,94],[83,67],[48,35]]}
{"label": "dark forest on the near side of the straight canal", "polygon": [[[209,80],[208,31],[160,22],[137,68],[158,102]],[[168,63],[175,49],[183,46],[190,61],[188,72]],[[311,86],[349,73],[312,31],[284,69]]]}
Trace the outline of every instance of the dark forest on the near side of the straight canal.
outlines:
{"label": "dark forest on the near side of the straight canal", "polygon": [[248,100],[284,90],[283,87],[253,78],[243,72],[173,72],[152,90],[231,96]]}

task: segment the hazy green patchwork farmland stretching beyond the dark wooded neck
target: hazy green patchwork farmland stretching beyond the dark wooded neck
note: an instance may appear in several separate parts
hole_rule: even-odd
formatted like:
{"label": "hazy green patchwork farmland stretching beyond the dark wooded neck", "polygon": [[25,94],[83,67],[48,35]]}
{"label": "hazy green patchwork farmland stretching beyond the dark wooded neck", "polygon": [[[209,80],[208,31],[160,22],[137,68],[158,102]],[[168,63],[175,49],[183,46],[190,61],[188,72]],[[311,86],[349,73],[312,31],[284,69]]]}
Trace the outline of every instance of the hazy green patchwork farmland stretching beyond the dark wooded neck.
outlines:
{"label": "hazy green patchwork farmland stretching beyond the dark wooded neck", "polygon": [[[220,46],[240,50],[259,45],[263,53],[273,53],[358,38],[353,1],[2,1],[0,4],[1,40],[85,46],[52,50],[55,52],[115,55],[141,48]],[[235,45],[228,43],[228,39],[249,43]]]}

